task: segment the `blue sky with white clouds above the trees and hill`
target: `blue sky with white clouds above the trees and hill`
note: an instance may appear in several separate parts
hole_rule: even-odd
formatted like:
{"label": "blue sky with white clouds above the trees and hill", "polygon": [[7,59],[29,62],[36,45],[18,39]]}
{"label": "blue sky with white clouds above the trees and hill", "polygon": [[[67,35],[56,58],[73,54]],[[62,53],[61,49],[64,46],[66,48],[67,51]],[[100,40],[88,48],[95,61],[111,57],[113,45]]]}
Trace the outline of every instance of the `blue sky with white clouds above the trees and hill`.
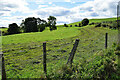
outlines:
{"label": "blue sky with white clouds above the trees and hill", "polygon": [[57,18],[57,25],[81,21],[84,18],[116,17],[119,0],[0,0],[0,27],[20,25],[27,17],[47,21]]}

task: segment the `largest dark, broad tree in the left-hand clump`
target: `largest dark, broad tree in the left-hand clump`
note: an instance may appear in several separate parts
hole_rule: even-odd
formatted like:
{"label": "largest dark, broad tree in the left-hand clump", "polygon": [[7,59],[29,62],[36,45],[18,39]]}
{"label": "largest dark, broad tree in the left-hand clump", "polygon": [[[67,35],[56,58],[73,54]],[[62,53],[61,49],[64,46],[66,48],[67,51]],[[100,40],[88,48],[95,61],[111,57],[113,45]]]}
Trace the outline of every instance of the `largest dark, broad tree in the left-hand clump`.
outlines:
{"label": "largest dark, broad tree in the left-hand clump", "polygon": [[24,32],[37,32],[37,19],[35,17],[28,17],[24,21]]}

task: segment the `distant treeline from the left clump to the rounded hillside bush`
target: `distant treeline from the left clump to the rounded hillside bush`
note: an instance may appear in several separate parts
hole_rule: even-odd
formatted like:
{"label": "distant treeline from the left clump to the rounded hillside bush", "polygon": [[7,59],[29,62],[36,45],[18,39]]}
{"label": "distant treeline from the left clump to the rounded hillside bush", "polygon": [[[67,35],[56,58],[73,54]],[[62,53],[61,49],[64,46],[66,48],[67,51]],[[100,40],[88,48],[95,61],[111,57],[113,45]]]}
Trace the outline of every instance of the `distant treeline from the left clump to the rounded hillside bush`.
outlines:
{"label": "distant treeline from the left clump to the rounded hillside bush", "polygon": [[[20,26],[16,23],[9,24],[7,31],[2,31],[2,35],[11,35],[18,33],[28,33],[28,32],[42,32],[46,27],[49,27],[50,31],[57,30],[56,26],[56,18],[54,16],[49,16],[47,18],[48,21],[35,17],[28,17],[25,20],[22,20]],[[87,18],[83,19],[79,26],[74,25],[75,27],[82,27],[89,24],[89,20]],[[67,24],[63,25],[64,27],[69,27]],[[72,27],[72,25],[70,25]]]}

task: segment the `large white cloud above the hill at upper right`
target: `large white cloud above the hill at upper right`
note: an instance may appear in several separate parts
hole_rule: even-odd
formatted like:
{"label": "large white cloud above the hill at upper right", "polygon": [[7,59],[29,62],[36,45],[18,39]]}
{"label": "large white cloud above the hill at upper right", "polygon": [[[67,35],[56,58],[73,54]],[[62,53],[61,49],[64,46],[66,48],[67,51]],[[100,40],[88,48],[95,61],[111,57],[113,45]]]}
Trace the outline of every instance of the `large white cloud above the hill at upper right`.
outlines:
{"label": "large white cloud above the hill at upper right", "polygon": [[[76,14],[88,18],[115,17],[116,6],[119,0],[94,0],[72,8]],[[81,13],[82,12],[82,13]]]}

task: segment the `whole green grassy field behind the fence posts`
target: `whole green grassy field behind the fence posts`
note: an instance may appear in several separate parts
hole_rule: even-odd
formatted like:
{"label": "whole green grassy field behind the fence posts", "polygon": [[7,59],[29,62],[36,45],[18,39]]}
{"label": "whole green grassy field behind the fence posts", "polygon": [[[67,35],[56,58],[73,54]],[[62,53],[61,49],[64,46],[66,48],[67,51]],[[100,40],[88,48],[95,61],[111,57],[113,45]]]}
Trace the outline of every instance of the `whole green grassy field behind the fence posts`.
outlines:
{"label": "whole green grassy field behind the fence posts", "polygon": [[[92,19],[103,21],[109,19]],[[111,20],[111,19],[110,19]],[[114,20],[114,18],[113,18]],[[73,23],[76,24],[76,23]],[[105,33],[108,48],[117,42],[117,30],[85,27],[59,27],[58,30],[2,36],[2,51],[8,78],[40,78],[43,76],[43,42],[47,43],[47,73],[55,72],[66,64],[75,39],[80,39],[74,64],[89,60],[104,49]]]}

